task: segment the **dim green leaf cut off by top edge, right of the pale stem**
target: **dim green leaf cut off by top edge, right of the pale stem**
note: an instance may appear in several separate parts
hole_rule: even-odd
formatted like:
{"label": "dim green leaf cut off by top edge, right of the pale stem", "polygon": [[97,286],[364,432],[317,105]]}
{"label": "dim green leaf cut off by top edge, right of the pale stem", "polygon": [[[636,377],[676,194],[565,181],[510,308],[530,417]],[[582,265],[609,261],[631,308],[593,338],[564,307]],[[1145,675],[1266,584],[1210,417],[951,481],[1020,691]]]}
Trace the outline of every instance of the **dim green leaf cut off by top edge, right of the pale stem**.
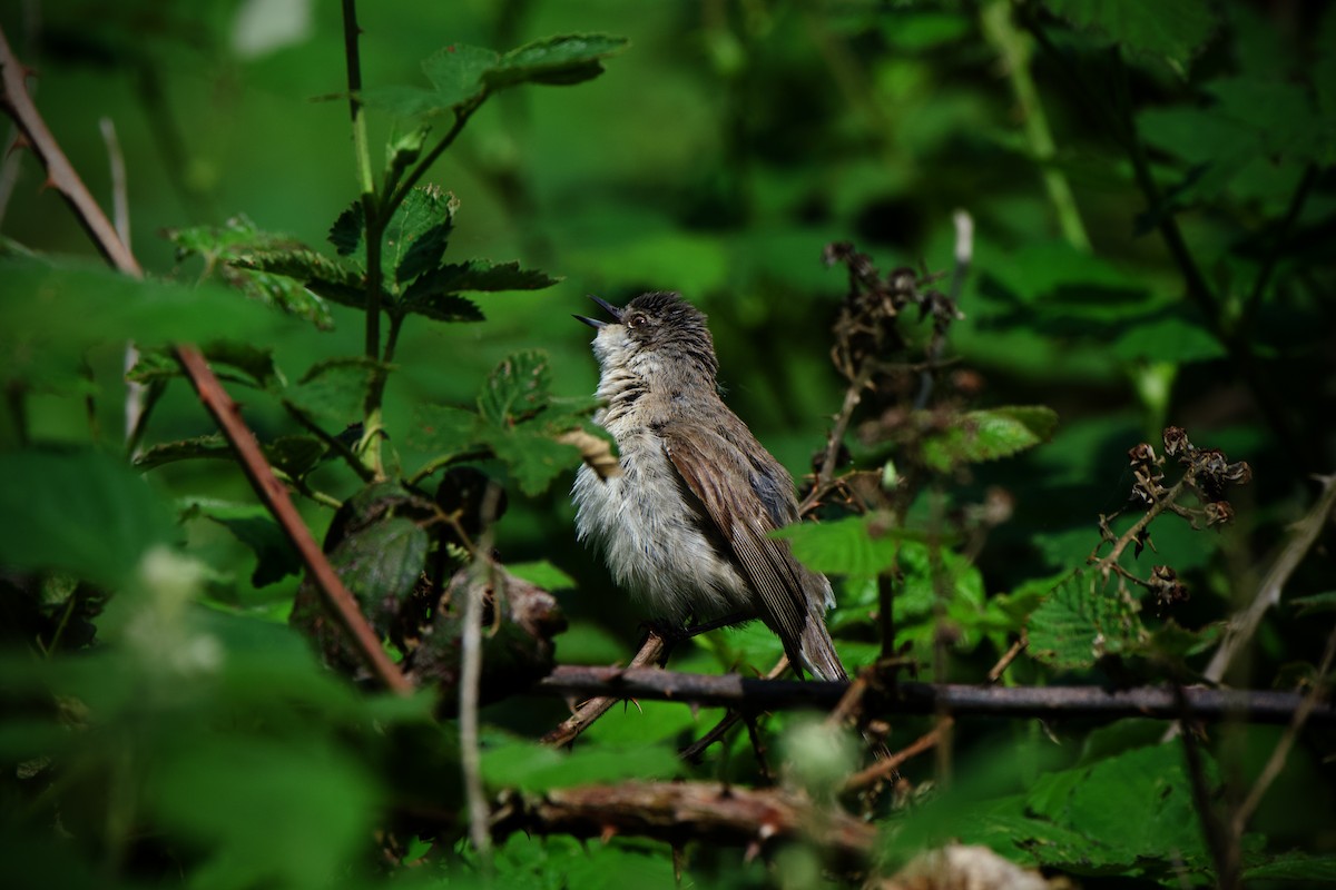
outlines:
{"label": "dim green leaf cut off by top edge, right of the pale stem", "polygon": [[1166,60],[1180,73],[1186,72],[1217,27],[1214,8],[1205,0],[1045,0],[1045,5],[1077,28]]}

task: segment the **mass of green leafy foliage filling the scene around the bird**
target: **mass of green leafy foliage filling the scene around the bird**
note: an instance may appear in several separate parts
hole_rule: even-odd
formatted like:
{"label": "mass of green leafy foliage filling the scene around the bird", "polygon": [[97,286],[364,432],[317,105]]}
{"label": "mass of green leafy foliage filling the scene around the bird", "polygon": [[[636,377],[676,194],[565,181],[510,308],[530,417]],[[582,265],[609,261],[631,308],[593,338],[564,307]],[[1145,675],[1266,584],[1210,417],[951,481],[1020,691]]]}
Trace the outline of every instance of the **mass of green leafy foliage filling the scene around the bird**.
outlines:
{"label": "mass of green leafy foliage filling the scene around the bird", "polygon": [[[123,157],[130,240],[151,275],[102,268],[35,159],[7,155],[7,886],[672,881],[672,853],[632,838],[513,835],[490,866],[461,841],[456,723],[428,693],[355,691],[286,624],[295,563],[170,343],[204,344],[318,538],[363,487],[354,450],[382,450],[387,475],[413,482],[466,467],[501,483],[492,546],[557,594],[572,622],[557,658],[572,663],[624,659],[647,618],[574,546],[564,495],[585,446],[557,439],[593,408],[588,332],[569,319],[587,292],[680,290],[701,306],[729,404],[802,480],[847,386],[830,334],[847,275],[823,248],[852,242],[884,270],[943,275],[934,287],[963,314],[937,379],[945,414],[878,392],[847,436],[842,467],[891,508],[827,504],[826,522],[790,532],[838,576],[830,624],[851,667],[883,650],[875,576],[890,572],[895,643],[930,679],[979,682],[1022,632],[1031,655],[1006,683],[1196,679],[1308,508],[1309,474],[1332,470],[1328,4],[472,0],[358,16],[370,168],[403,201],[382,220],[395,347],[370,355],[337,4],[0,9],[41,113],[106,207],[108,156]],[[468,127],[413,183],[461,109]],[[973,220],[967,268],[958,211]],[[911,350],[894,358],[922,359],[929,326],[903,327]],[[128,342],[152,404],[142,430],[126,430]],[[358,422],[359,442],[343,435]],[[1229,490],[1232,524],[1160,516],[1148,550],[1118,563],[1174,567],[1189,600],[1117,584],[1101,598],[1071,571],[1126,504],[1128,450],[1158,450],[1166,424],[1245,459],[1253,482]],[[448,478],[452,503],[476,507],[472,478]],[[1319,540],[1229,682],[1323,681],[1329,531]],[[684,644],[672,666],[764,671],[779,654],[752,624]],[[534,698],[485,709],[490,791],[760,781],[745,733],[703,763],[675,758],[716,710],[617,709],[573,754],[536,747],[564,714]],[[896,718],[888,745],[927,726]],[[760,721],[763,735],[786,729],[802,731]],[[959,721],[937,769],[903,767],[925,794],[870,806],[878,865],[955,838],[1096,882],[1214,881],[1164,727],[1046,729],[1061,745],[1033,722]],[[1242,725],[1201,741],[1221,811],[1276,743]],[[1329,730],[1305,734],[1237,839],[1256,886],[1336,881],[1331,747]],[[784,883],[700,846],[697,883]]]}

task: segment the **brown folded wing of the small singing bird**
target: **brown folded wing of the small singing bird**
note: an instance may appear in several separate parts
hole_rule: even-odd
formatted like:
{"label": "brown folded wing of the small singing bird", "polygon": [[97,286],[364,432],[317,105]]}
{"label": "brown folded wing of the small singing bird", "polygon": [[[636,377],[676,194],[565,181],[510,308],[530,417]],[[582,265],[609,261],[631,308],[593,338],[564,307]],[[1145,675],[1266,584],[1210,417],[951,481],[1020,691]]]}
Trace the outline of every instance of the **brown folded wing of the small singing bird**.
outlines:
{"label": "brown folded wing of the small singing bird", "polygon": [[808,572],[784,542],[767,534],[776,528],[772,516],[779,512],[770,503],[774,492],[764,486],[758,491],[756,482],[744,475],[745,459],[737,460],[737,446],[724,436],[676,424],[661,435],[668,459],[728,542],[735,562],[759,594],[766,623],[779,634],[790,663],[802,673],[799,640],[808,622],[803,592]]}

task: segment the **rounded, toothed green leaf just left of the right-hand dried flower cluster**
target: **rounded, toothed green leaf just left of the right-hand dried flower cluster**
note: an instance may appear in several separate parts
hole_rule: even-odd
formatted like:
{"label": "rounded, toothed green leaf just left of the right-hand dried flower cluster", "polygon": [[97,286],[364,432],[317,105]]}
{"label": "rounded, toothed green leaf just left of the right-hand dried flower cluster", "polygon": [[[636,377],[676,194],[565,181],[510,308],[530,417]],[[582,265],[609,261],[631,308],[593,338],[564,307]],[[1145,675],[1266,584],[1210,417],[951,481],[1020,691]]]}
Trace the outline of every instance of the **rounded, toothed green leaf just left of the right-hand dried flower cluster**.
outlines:
{"label": "rounded, toothed green leaf just left of the right-hand dried flower cluster", "polygon": [[1097,580],[1097,572],[1074,571],[1030,614],[1031,658],[1058,670],[1081,670],[1142,640],[1136,606]]}

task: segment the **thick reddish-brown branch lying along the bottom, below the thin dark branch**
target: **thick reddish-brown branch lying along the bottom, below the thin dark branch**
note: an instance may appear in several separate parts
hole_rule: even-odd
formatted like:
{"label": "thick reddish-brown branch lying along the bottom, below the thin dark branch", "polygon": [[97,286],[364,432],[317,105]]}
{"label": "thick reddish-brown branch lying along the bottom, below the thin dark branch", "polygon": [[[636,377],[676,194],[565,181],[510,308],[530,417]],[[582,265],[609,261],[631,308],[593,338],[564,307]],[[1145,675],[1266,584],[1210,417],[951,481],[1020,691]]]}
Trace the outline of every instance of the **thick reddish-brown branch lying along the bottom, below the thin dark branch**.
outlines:
{"label": "thick reddish-brown branch lying along the bottom, below the thin dark branch", "polygon": [[782,790],[668,782],[512,794],[493,813],[492,834],[502,839],[516,831],[605,841],[623,834],[673,845],[700,839],[748,855],[807,841],[844,866],[863,863],[876,838],[871,825]]}

